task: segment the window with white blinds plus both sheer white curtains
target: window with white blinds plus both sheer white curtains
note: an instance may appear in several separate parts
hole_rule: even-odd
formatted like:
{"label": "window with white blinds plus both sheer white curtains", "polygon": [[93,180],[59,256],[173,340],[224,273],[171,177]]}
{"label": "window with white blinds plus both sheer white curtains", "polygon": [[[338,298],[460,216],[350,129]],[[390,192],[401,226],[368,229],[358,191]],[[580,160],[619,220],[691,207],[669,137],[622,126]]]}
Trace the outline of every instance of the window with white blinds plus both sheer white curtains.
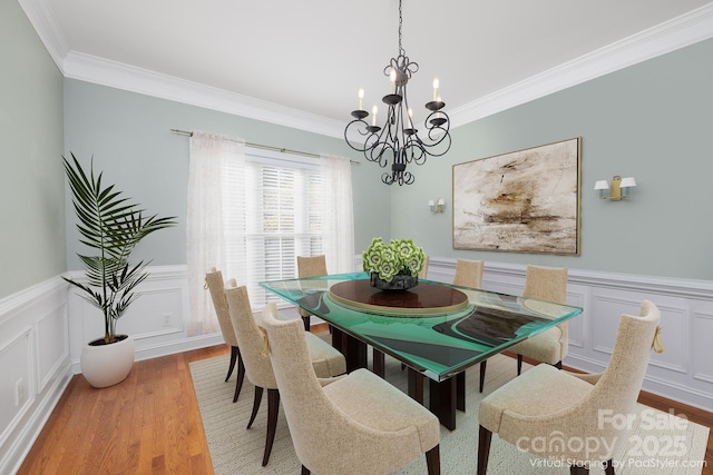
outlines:
{"label": "window with white blinds plus both sheer white curtains", "polygon": [[218,330],[205,273],[246,286],[253,310],[281,301],[258,286],[296,277],[299,255],[326,256],[333,274],[354,267],[351,162],[246,148],[245,141],[191,136],[186,212],[188,336]]}

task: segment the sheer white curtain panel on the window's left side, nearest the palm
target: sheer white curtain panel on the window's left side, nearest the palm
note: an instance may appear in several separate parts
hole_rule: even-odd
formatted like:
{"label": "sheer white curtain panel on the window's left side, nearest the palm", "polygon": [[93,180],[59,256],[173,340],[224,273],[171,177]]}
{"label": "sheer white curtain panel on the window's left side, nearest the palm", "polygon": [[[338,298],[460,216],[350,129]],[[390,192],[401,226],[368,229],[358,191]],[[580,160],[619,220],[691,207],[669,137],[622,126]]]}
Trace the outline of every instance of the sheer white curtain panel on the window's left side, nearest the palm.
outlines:
{"label": "sheer white curtain panel on the window's left side, nearest the palm", "polygon": [[[233,174],[225,174],[228,167]],[[188,336],[219,330],[211,295],[204,289],[205,273],[211,267],[226,274],[227,240],[223,222],[224,188],[240,175],[245,164],[245,142],[222,136],[194,132],[191,137],[191,164],[188,169],[188,210],[186,215],[186,253],[188,267],[189,324]],[[237,170],[237,171],[235,171]],[[242,188],[242,187],[241,187]],[[231,202],[244,206],[245,200]],[[240,209],[231,209],[229,215]],[[227,218],[229,219],[229,218]]]}

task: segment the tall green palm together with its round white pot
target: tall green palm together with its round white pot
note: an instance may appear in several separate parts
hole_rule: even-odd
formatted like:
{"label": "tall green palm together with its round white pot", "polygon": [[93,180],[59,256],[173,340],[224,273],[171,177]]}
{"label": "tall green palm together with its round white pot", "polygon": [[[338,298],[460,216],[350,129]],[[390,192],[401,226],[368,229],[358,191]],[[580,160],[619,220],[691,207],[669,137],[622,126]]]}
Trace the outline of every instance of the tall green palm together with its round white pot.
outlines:
{"label": "tall green palm together with its round white pot", "polygon": [[[138,298],[136,287],[143,283],[150,261],[131,264],[134,248],[149,234],[176,225],[176,217],[145,216],[139,205],[129,202],[115,185],[105,185],[102,175],[95,177],[94,158],[89,175],[74,154],[72,162],[62,157],[71,189],[71,199],[81,235],[79,243],[95,254],[77,254],[85,267],[85,279],[62,277],[82,290],[81,297],[101,310],[105,335],[85,345],[81,372],[94,387],[120,383],[134,365],[134,339],[116,334],[116,323]],[[86,284],[84,283],[86,281]]]}

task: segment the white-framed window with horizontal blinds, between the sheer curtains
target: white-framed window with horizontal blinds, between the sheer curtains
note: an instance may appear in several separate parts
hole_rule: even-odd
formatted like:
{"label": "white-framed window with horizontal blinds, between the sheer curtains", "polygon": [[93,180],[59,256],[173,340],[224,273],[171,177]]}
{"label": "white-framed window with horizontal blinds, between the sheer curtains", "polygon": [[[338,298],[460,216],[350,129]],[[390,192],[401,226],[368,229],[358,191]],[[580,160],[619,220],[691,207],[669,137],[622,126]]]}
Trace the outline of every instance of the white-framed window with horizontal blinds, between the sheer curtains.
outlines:
{"label": "white-framed window with horizontal blinds, between the sheer curtains", "polygon": [[[245,169],[224,161],[223,226],[228,276],[247,286],[254,310],[282,300],[258,283],[297,276],[296,257],[323,254],[322,178],[316,159],[247,149]],[[244,206],[240,206],[244,200]],[[238,204],[238,206],[232,206]]]}

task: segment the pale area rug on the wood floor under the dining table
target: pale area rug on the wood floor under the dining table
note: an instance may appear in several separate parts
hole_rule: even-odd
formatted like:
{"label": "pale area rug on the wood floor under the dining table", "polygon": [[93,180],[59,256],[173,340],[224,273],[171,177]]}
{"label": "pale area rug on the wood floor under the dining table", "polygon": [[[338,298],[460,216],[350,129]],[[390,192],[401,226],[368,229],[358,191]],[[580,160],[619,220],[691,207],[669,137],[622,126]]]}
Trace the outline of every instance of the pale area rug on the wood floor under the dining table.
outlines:
{"label": "pale area rug on the wood floor under the dining table", "polygon": [[[297,474],[297,459],[284,412],[280,410],[275,443],[266,467],[262,467],[267,424],[267,399],[257,418],[246,429],[253,404],[254,388],[246,379],[238,400],[233,404],[235,375],[224,383],[228,355],[191,364],[191,375],[201,408],[205,436],[216,475],[228,474]],[[524,365],[524,370],[528,368]],[[478,454],[478,405],[486,395],[516,376],[512,358],[498,355],[488,360],[485,390],[478,393],[478,365],[467,375],[465,413],[458,412],[456,431],[441,426],[441,473],[470,475],[476,473]],[[406,390],[406,372],[399,362],[387,356],[387,380]],[[428,393],[427,393],[428,397]],[[428,400],[428,399],[427,399]],[[651,473],[701,474],[709,428],[649,407],[638,405],[627,443],[622,444],[614,457],[618,475]],[[424,474],[426,457],[421,457],[397,474]],[[488,474],[568,474],[566,465],[556,464],[518,451],[515,445],[494,435]],[[592,474],[604,469],[593,467]]]}

